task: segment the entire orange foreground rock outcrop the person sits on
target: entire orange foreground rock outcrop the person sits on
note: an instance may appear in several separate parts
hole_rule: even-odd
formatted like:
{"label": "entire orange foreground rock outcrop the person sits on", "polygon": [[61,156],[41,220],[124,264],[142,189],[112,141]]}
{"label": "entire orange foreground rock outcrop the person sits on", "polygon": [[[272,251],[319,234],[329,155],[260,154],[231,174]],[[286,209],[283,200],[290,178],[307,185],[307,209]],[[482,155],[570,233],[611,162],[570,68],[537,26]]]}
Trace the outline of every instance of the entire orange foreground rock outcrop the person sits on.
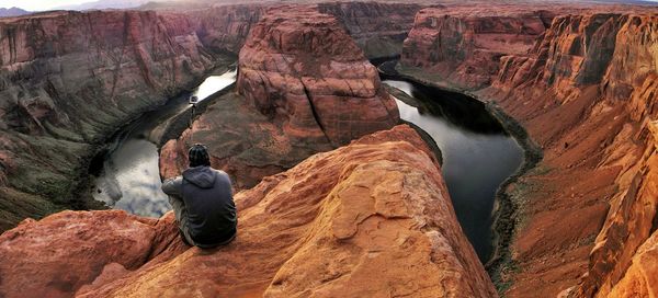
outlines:
{"label": "entire orange foreground rock outcrop the person sits on", "polygon": [[496,295],[436,160],[408,126],[316,154],[235,198],[238,237],[214,250],[182,247],[171,214],[156,221],[123,211],[63,213],[24,222],[0,237],[0,293]]}

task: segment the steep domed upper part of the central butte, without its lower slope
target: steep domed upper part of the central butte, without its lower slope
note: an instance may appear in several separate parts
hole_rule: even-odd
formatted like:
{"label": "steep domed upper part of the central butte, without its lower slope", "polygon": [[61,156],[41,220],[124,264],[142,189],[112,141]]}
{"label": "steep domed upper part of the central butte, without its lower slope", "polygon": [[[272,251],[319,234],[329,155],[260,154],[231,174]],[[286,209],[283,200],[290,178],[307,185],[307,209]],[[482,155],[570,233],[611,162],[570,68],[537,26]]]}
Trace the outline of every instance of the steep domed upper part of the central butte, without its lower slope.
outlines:
{"label": "steep domed upper part of the central butte, without its lower slope", "polygon": [[240,50],[238,92],[286,135],[345,145],[399,121],[377,70],[330,15],[271,10]]}

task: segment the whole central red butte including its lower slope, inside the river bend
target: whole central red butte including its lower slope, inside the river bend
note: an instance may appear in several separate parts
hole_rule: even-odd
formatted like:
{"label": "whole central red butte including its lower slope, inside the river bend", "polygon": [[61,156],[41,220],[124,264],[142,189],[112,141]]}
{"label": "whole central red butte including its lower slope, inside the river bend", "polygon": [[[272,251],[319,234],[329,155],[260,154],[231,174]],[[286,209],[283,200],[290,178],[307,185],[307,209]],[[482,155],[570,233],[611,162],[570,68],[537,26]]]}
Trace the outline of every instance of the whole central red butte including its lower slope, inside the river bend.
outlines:
{"label": "whole central red butte including its lower slope, inside the river bend", "polygon": [[249,188],[399,122],[375,67],[333,16],[314,8],[269,10],[240,50],[239,69],[237,92],[164,145],[163,173],[185,169],[188,148],[201,141],[214,168]]}

